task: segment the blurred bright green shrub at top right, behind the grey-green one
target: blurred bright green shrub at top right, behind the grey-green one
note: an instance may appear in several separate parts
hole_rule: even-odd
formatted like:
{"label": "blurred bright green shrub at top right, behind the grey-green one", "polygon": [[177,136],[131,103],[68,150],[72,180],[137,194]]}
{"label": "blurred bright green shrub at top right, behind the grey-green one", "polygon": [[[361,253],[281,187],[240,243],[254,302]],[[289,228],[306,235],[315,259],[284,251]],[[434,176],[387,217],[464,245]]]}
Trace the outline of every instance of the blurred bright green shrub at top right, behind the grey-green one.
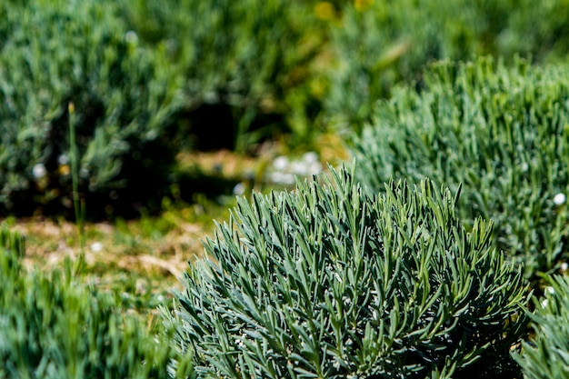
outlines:
{"label": "blurred bright green shrub at top right, behind the grey-green one", "polygon": [[359,130],[378,98],[388,96],[397,82],[420,84],[424,65],[436,60],[564,57],[568,11],[566,0],[349,2],[341,22],[332,24],[337,62],[324,103],[329,122]]}

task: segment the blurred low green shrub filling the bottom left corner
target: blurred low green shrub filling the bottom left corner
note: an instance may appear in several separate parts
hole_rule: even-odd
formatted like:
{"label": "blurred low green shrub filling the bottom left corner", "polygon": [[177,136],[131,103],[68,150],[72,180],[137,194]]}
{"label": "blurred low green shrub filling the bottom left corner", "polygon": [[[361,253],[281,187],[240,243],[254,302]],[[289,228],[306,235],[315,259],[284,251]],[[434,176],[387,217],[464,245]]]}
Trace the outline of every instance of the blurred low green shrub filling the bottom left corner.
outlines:
{"label": "blurred low green shrub filling the bottom left corner", "polygon": [[[155,341],[112,296],[70,279],[69,261],[65,274],[27,274],[19,259],[0,247],[0,378],[192,375],[188,358],[176,354],[167,338]],[[169,368],[173,359],[177,372]]]}

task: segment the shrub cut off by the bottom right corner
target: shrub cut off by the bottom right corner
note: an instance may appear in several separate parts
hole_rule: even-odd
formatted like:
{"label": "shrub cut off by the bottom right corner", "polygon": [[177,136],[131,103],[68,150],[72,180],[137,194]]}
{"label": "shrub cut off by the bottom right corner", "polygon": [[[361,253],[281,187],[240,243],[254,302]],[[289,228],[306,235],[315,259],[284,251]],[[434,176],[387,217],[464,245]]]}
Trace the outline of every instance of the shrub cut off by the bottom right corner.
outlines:
{"label": "shrub cut off by the bottom right corner", "polygon": [[534,341],[514,355],[528,379],[569,377],[569,278],[556,275],[547,284],[544,299],[534,302],[531,314]]}

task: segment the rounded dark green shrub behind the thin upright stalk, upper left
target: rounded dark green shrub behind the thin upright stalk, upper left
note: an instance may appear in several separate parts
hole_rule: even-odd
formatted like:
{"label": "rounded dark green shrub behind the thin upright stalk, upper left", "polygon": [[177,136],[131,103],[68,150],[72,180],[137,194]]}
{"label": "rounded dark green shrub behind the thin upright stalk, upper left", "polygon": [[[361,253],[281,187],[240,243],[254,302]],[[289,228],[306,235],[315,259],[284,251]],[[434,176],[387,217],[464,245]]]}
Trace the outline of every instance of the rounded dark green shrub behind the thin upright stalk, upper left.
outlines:
{"label": "rounded dark green shrub behind the thin upright stalk, upper left", "polygon": [[116,12],[113,2],[0,5],[0,212],[71,206],[70,102],[85,196],[133,204],[167,183],[165,129],[182,97]]}

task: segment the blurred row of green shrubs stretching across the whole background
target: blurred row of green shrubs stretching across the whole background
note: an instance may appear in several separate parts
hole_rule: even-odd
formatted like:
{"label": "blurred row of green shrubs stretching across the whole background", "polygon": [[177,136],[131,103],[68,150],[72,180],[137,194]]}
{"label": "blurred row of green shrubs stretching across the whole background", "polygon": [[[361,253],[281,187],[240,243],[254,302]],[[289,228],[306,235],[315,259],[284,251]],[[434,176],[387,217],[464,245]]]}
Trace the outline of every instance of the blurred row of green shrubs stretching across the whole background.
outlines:
{"label": "blurred row of green shrubs stretching across the whole background", "polygon": [[563,57],[568,6],[5,1],[0,212],[69,206],[70,102],[87,203],[132,211],[159,204],[180,149],[282,134],[310,145],[323,125],[358,130],[378,97],[399,81],[422,85],[421,68],[440,58]]}

